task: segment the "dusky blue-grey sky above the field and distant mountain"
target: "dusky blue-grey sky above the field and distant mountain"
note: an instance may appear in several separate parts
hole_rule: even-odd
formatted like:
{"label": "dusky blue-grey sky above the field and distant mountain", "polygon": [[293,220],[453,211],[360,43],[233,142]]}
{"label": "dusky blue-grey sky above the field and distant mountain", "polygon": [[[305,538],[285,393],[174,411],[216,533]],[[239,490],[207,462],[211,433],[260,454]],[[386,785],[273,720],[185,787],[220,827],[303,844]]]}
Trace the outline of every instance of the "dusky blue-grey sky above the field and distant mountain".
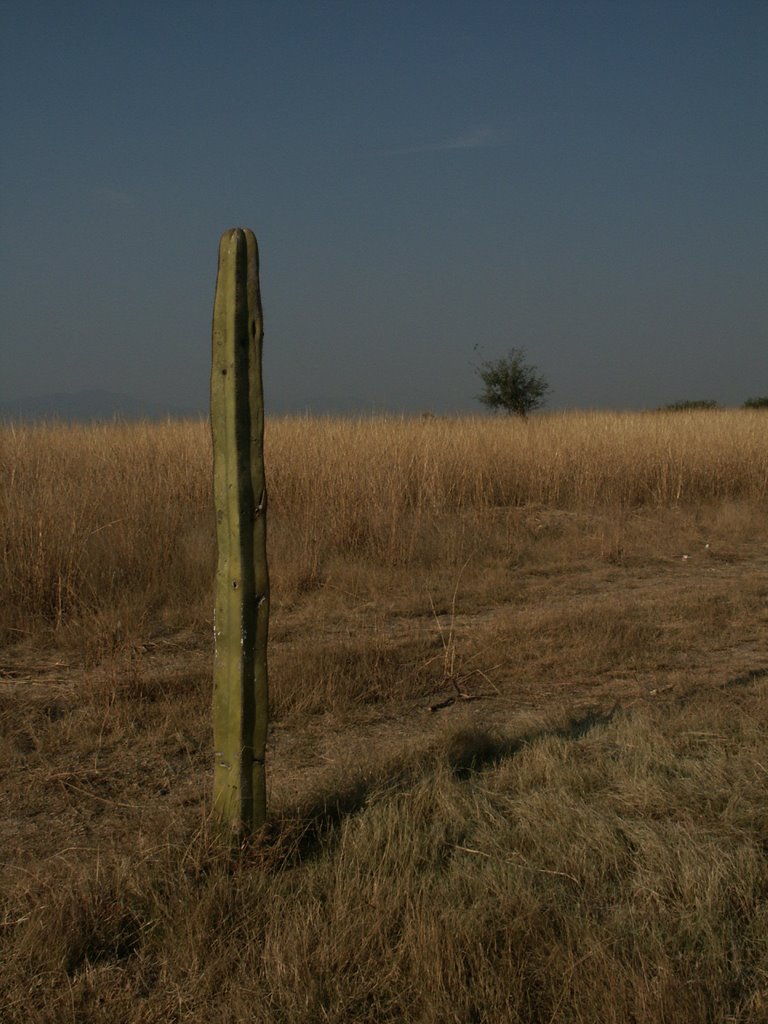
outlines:
{"label": "dusky blue-grey sky above the field and distant mountain", "polygon": [[7,0],[0,401],[205,410],[220,233],[272,411],[768,394],[768,4]]}

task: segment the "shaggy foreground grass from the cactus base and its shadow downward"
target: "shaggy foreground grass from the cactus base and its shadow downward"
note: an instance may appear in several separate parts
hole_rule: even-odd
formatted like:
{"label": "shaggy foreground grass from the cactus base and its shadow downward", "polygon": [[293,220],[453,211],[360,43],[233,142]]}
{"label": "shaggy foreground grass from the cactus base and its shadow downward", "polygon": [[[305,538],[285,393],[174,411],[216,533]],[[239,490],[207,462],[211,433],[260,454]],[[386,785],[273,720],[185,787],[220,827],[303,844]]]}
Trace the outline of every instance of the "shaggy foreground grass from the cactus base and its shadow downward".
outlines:
{"label": "shaggy foreground grass from the cactus base and its shadow downward", "polygon": [[6,888],[3,1019],[759,1024],[767,695],[447,730],[233,856],[53,856]]}

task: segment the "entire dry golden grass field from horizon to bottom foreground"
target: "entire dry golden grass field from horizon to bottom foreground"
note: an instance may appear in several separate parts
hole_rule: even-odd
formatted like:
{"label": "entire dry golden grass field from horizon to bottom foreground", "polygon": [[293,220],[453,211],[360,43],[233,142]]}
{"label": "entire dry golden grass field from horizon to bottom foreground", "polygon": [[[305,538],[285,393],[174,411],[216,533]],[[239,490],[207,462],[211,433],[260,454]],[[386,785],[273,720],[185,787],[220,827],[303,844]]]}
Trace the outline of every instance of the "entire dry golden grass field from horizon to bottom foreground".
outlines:
{"label": "entire dry golden grass field from horizon to bottom foreground", "polygon": [[267,423],[270,821],[203,422],[0,428],[0,1020],[768,1021],[768,415]]}

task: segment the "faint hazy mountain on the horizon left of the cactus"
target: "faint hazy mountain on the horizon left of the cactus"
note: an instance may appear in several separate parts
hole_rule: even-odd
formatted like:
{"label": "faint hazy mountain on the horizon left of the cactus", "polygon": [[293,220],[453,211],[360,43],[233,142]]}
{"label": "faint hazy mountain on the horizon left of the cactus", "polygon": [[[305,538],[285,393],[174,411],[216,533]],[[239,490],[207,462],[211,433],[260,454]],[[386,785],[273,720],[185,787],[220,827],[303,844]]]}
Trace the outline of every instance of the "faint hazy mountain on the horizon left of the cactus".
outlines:
{"label": "faint hazy mountain on the horizon left of the cactus", "polygon": [[42,394],[0,402],[0,420],[163,420],[206,415],[206,410],[181,409],[165,402],[143,401],[115,391],[75,391]]}

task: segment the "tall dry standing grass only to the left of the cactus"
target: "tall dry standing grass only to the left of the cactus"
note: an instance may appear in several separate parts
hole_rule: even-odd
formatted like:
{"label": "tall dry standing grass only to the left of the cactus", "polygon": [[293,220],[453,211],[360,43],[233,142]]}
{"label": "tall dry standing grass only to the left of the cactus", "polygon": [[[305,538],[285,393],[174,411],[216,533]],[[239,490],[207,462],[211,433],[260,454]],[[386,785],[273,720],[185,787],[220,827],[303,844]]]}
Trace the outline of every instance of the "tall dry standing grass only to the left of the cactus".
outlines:
{"label": "tall dry standing grass only to the left of the cactus", "polygon": [[0,567],[6,636],[115,629],[210,592],[202,423],[5,427]]}

